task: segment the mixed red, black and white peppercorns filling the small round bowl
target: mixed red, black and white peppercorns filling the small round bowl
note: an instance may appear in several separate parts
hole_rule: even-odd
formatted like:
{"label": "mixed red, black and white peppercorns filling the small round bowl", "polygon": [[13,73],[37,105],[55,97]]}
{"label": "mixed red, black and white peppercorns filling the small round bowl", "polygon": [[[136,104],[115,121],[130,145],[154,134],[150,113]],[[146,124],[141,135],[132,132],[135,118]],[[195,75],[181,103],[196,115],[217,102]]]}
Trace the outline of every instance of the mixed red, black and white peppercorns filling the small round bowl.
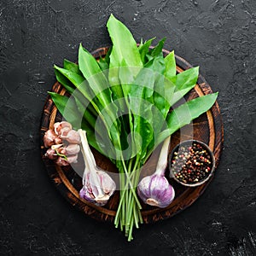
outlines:
{"label": "mixed red, black and white peppercorns filling the small round bowl", "polygon": [[200,143],[182,143],[172,154],[171,172],[181,183],[201,183],[211,170],[212,157]]}

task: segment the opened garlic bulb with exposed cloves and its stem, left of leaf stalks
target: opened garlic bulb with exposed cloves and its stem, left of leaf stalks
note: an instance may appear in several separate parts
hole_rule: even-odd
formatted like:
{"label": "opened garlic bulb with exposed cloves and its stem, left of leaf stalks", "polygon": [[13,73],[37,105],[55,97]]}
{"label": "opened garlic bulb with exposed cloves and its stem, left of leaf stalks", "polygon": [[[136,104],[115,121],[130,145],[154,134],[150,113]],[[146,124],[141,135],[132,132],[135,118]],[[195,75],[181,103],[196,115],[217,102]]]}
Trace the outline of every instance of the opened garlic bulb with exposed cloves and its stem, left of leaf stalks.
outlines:
{"label": "opened garlic bulb with exposed cloves and its stem, left of leaf stalks", "polygon": [[85,131],[79,129],[81,137],[81,152],[84,156],[83,188],[80,190],[80,197],[86,201],[93,202],[97,206],[107,204],[111,195],[116,189],[113,179],[96,166],[95,158],[90,151]]}

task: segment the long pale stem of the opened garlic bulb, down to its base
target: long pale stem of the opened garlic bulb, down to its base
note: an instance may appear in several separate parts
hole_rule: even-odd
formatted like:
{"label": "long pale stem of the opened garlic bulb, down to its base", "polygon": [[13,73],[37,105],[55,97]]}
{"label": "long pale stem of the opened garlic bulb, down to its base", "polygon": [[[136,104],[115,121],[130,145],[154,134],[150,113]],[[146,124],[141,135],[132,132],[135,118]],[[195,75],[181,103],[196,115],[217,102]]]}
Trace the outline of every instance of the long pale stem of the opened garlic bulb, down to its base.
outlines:
{"label": "long pale stem of the opened garlic bulb, down to its base", "polygon": [[[101,187],[101,182],[96,175],[96,161],[90,150],[89,143],[87,141],[86,133],[82,129],[79,129],[79,135],[81,137],[81,151],[84,156],[84,165],[87,172],[90,172],[90,181],[92,185],[94,185],[98,191],[97,196],[102,197],[104,195]],[[85,170],[84,170],[85,172]]]}

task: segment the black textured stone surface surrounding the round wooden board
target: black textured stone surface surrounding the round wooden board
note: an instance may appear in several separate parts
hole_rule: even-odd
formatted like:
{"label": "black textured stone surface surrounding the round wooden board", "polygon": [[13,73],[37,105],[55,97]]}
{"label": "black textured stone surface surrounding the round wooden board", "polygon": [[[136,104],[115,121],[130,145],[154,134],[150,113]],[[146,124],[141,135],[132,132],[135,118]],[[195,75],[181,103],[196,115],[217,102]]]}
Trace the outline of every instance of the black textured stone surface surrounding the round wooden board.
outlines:
{"label": "black textured stone surface surrounding the round wooden board", "polygon": [[[204,195],[141,226],[130,243],[61,197],[39,149],[53,64],[76,61],[80,42],[109,45],[111,13],[137,41],[166,36],[166,49],[200,65],[224,120],[221,163]],[[1,255],[255,255],[255,31],[255,0],[1,0]]]}

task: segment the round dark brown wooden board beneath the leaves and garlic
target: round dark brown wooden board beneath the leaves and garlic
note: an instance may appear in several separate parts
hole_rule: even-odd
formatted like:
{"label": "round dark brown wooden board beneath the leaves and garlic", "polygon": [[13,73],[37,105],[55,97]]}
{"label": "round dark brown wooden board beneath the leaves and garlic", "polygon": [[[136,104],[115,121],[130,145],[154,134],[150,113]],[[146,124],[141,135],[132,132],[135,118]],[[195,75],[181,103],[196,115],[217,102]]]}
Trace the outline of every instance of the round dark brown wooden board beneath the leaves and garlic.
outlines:
{"label": "round dark brown wooden board beneath the leaves and garlic", "polygon": [[[98,59],[101,55],[102,57],[106,55],[108,47],[96,49],[92,54]],[[163,50],[164,55],[169,52]],[[181,57],[176,56],[177,61],[177,73],[183,72],[190,67],[192,67],[187,61],[184,61]],[[61,84],[55,83],[52,87],[52,91],[64,95],[66,90],[63,89]],[[212,93],[212,89],[207,81],[199,75],[197,84],[195,85],[195,90],[191,90],[186,96],[186,100],[193,99],[197,96],[203,96]],[[52,102],[48,96],[45,105],[44,112],[41,121],[41,153],[46,166],[46,170],[49,174],[50,179],[55,183],[56,188],[61,192],[61,194],[69,201],[74,207],[83,211],[85,214],[92,218],[102,221],[112,222],[115,216],[115,211],[119,204],[119,192],[116,191],[108,204],[105,207],[96,207],[94,204],[84,201],[79,197],[79,189],[82,187],[81,177],[73,171],[71,166],[55,166],[53,162],[44,156],[46,149],[44,148],[43,137],[44,132],[49,128],[53,127],[56,121],[61,120],[61,114],[55,108],[55,104]],[[192,130],[191,130],[192,129]],[[192,133],[191,133],[192,131]],[[216,167],[219,163],[220,154],[223,148],[224,140],[224,130],[223,123],[221,119],[220,110],[218,108],[218,103],[212,106],[212,108],[207,111],[207,113],[202,114],[198,119],[195,119],[193,126],[184,127],[181,131],[177,131],[172,135],[172,142],[170,147],[170,152],[172,148],[177,145],[180,141],[185,139],[197,139],[204,143],[207,143],[212,149],[213,154],[216,159]],[[92,149],[93,150],[93,149]],[[157,151],[157,150],[156,150]],[[117,172],[117,169],[113,164],[102,154],[93,150],[96,156],[96,162],[98,166],[101,166],[104,170],[109,172]],[[156,162],[158,160],[158,154],[155,153],[150,158],[146,166],[142,170],[142,175],[148,175],[154,172]],[[164,218],[170,218],[174,214],[183,211],[186,207],[189,207],[207,188],[207,184],[210,183],[212,178],[203,185],[195,188],[184,187],[175,183],[172,178],[169,178],[170,183],[172,183],[176,196],[174,201],[169,207],[158,208],[149,207],[143,204],[143,221],[144,223],[151,223]]]}

